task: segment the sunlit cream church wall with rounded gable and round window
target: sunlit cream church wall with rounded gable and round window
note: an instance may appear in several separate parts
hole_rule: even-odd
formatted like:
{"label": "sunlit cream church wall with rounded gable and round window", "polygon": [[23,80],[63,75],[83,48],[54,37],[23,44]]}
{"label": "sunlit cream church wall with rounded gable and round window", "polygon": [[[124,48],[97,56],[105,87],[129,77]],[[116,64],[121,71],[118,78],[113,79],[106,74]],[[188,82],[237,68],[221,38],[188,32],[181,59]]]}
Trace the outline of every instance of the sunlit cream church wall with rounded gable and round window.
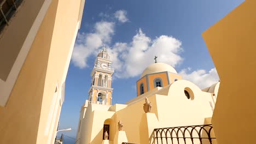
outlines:
{"label": "sunlit cream church wall with rounded gable and round window", "polygon": [[[194,99],[185,96],[184,89],[187,87],[194,93]],[[179,80],[172,83],[168,91],[167,98],[165,95],[156,97],[160,128],[203,124],[206,117],[212,116],[212,107],[209,104],[213,104],[211,94],[202,92],[193,83]],[[167,109],[167,105],[171,109]]]}

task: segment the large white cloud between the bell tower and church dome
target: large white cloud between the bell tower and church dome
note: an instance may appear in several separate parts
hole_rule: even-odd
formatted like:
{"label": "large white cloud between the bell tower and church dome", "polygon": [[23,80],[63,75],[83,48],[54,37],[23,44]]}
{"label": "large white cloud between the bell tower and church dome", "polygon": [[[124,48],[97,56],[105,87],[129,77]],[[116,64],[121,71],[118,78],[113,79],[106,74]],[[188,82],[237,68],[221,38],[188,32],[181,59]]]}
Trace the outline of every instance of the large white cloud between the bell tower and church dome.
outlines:
{"label": "large white cloud between the bell tower and church dome", "polygon": [[115,76],[128,78],[141,75],[149,64],[154,63],[154,56],[158,56],[158,62],[175,67],[183,60],[178,55],[180,51],[181,41],[167,35],[152,40],[139,29],[131,43],[116,43],[110,50],[110,56]]}

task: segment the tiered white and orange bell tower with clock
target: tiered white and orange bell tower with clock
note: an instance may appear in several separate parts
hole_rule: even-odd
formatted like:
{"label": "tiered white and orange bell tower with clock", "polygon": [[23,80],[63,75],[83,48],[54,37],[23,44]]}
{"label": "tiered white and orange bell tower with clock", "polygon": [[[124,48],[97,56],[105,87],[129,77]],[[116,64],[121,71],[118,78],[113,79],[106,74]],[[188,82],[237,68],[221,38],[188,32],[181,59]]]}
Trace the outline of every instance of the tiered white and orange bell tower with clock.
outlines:
{"label": "tiered white and orange bell tower with clock", "polygon": [[111,105],[112,104],[112,74],[114,68],[105,46],[98,53],[94,68],[91,71],[91,87],[89,89],[90,103]]}

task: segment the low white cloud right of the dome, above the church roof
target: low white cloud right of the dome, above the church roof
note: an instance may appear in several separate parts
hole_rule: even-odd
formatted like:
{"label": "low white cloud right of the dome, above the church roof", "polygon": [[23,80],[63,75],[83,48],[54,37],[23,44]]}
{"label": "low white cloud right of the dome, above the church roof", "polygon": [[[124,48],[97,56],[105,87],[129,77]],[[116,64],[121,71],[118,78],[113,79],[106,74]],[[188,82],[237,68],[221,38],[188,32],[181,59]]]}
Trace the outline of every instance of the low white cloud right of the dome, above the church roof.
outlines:
{"label": "low white cloud right of the dome, above the church roof", "polygon": [[200,88],[206,88],[213,85],[219,81],[219,76],[217,73],[216,68],[211,69],[210,71],[206,70],[196,70],[190,71],[190,69],[183,69],[179,72],[182,75],[183,79],[191,81],[195,83],[195,85],[199,86]]}

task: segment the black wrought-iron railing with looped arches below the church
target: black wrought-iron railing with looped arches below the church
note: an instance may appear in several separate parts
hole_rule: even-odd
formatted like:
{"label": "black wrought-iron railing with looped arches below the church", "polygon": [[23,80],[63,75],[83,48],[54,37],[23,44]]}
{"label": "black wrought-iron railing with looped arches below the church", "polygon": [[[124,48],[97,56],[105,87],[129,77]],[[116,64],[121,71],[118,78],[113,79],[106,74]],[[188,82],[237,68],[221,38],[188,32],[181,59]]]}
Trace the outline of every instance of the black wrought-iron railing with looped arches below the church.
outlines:
{"label": "black wrought-iron railing with looped arches below the church", "polygon": [[215,142],[216,137],[211,124],[154,129],[154,143],[158,144],[213,144]]}

